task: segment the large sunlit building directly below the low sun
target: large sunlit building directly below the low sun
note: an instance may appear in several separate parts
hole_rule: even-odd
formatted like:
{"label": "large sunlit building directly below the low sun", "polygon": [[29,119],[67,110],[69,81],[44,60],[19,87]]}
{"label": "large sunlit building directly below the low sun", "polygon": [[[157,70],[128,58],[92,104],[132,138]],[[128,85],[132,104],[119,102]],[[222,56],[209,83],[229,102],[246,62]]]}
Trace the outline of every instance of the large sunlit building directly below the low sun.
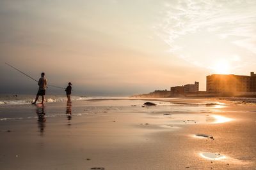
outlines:
{"label": "large sunlit building directly below the low sun", "polygon": [[206,77],[206,91],[209,93],[255,92],[256,74],[250,76],[234,74],[212,74]]}

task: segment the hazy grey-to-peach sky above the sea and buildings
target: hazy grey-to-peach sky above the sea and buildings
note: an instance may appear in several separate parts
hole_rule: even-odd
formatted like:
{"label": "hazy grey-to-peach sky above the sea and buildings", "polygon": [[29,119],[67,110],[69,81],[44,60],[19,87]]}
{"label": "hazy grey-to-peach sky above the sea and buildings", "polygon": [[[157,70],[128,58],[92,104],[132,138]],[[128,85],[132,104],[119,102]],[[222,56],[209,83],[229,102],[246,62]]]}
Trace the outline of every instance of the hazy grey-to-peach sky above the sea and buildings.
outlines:
{"label": "hazy grey-to-peach sky above the sea and buildings", "polygon": [[[51,85],[87,96],[129,96],[249,75],[256,66],[256,1],[0,0],[0,94]],[[47,94],[64,94],[49,88]]]}

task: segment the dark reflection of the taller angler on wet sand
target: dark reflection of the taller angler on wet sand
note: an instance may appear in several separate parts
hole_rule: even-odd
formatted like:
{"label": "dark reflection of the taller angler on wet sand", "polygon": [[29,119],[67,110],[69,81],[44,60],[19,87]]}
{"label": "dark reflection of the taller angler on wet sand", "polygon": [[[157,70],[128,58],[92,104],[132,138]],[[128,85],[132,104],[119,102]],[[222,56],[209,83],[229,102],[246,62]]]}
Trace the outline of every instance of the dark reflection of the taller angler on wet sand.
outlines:
{"label": "dark reflection of the taller angler on wet sand", "polygon": [[36,115],[38,117],[38,129],[40,131],[40,135],[44,135],[44,129],[45,129],[45,106],[44,104],[36,104]]}

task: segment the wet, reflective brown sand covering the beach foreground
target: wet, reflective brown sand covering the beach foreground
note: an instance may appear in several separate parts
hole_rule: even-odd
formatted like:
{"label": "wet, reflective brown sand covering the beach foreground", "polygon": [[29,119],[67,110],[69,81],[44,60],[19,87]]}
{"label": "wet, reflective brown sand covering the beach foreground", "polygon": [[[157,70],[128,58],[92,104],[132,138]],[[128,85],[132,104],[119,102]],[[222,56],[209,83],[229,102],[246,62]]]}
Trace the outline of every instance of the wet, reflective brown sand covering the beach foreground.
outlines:
{"label": "wet, reflective brown sand covering the beach foreground", "polygon": [[255,169],[256,106],[166,100],[1,106],[0,169]]}

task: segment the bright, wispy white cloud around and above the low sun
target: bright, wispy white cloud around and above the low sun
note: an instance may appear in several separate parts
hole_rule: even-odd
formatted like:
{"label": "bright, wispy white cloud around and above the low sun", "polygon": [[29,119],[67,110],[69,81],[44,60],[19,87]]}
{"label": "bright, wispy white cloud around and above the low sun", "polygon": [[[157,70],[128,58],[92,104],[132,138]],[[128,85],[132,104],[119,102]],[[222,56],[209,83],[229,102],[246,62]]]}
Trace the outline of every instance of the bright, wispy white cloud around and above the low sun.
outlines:
{"label": "bright, wispy white cloud around and above the low sun", "polygon": [[256,61],[255,10],[253,0],[166,1],[154,31],[171,53],[195,66],[209,68],[211,59],[223,58],[247,66],[246,61]]}

